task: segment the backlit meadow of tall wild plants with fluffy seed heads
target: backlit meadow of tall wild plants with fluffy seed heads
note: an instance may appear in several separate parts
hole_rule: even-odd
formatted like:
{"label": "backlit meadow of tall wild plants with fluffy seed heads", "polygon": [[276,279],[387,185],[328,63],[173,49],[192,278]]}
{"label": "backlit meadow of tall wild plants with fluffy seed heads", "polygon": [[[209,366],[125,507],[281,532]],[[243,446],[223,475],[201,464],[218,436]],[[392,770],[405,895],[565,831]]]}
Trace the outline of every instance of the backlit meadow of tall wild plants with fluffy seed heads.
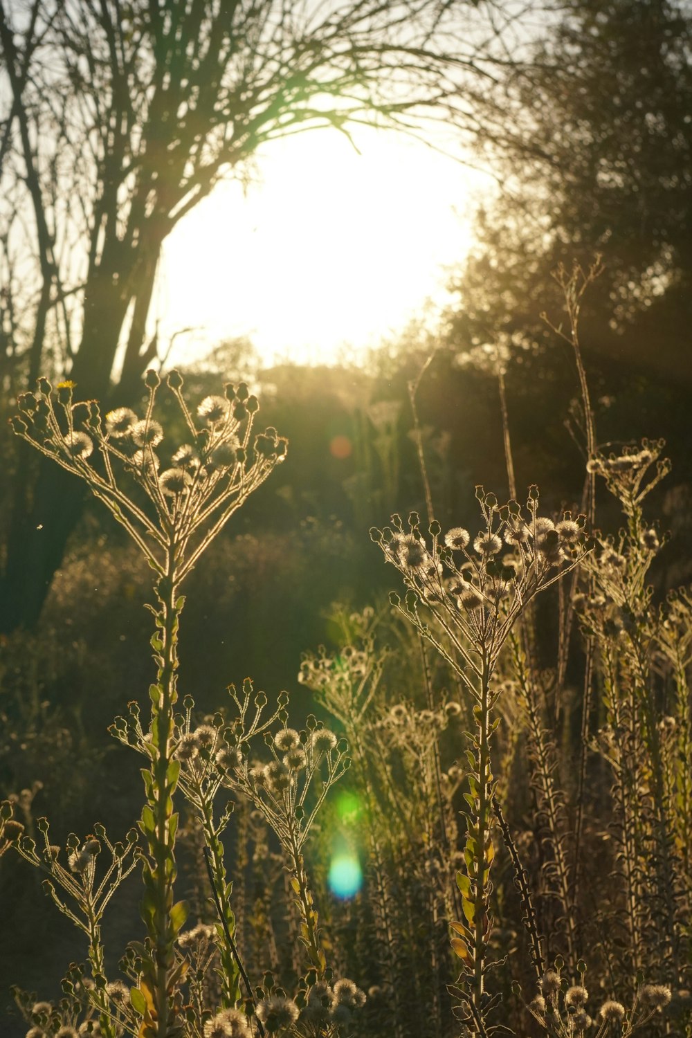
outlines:
{"label": "backlit meadow of tall wild plants with fluffy seed heads", "polygon": [[[282,570],[276,529],[224,540],[293,449],[273,426],[258,431],[246,383],[195,393],[194,378],[150,371],[139,411],[105,415],[68,381],[39,379],[19,398],[15,433],[82,480],[134,546],[111,538],[112,601],[127,586],[139,607],[136,555],[153,598],[151,630],[127,662],[79,631],[70,653],[36,644],[33,673],[27,635],[5,646],[3,689],[24,684],[3,699],[16,732],[3,767],[35,773],[2,805],[2,864],[13,880],[21,868],[43,881],[36,939],[50,939],[38,919],[51,910],[79,933],[61,993],[13,988],[18,1033],[692,1035],[692,596],[652,585],[666,543],[651,507],[669,471],[663,442],[599,445],[579,342],[594,274],[557,275],[566,320],[553,330],[578,386],[577,500],[516,485],[513,401],[495,363],[498,493],[477,485],[460,519],[436,518],[445,481],[414,379],[409,460],[423,517],[383,525],[377,513],[386,519],[400,494],[407,402],[380,401],[361,443],[378,467],[360,474],[381,496],[360,495],[358,528],[365,538],[375,523],[382,576],[369,602],[362,591],[357,608],[333,605],[329,644],[304,645],[297,679],[281,682],[290,696],[245,677],[220,698],[204,677],[204,637],[237,624],[271,655],[298,570],[325,557],[319,540],[351,550],[334,524],[303,529],[296,568]],[[211,619],[193,621],[194,650],[178,655],[183,591],[191,603],[204,593],[204,556]],[[241,574],[227,613],[221,563]],[[256,607],[260,581],[285,585],[278,620]],[[79,653],[90,690],[110,689],[117,757],[90,745],[88,720],[44,701],[62,682],[70,710],[62,657]],[[111,661],[122,670],[105,674]],[[35,810],[41,782],[65,791],[50,826]],[[85,801],[108,826],[67,832]]]}

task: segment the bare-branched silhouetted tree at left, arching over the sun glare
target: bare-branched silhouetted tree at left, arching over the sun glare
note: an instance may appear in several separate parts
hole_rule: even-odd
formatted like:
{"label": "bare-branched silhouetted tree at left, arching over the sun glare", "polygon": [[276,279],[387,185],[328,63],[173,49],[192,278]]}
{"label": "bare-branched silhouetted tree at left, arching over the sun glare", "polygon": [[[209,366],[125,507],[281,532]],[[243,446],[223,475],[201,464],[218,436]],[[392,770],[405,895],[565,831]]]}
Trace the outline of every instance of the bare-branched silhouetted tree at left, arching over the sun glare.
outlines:
{"label": "bare-branched silhouetted tree at left, arching over the sun glare", "polygon": [[[0,0],[5,392],[52,370],[82,399],[133,397],[163,241],[265,142],[433,112],[468,127],[497,39],[477,6]],[[35,622],[81,510],[56,468],[16,466],[4,629]]]}

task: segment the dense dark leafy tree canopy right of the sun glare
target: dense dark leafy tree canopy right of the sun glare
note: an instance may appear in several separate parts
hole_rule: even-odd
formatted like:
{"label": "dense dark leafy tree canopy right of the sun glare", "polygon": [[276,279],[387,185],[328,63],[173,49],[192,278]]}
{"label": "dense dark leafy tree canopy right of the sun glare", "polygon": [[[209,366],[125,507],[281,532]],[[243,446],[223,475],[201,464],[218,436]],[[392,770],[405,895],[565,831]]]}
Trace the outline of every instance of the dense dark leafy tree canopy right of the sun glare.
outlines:
{"label": "dense dark leafy tree canopy right of the sun glare", "polygon": [[570,0],[548,26],[485,110],[502,191],[459,283],[467,317],[541,337],[551,270],[601,253],[599,347],[675,375],[692,318],[692,6]]}

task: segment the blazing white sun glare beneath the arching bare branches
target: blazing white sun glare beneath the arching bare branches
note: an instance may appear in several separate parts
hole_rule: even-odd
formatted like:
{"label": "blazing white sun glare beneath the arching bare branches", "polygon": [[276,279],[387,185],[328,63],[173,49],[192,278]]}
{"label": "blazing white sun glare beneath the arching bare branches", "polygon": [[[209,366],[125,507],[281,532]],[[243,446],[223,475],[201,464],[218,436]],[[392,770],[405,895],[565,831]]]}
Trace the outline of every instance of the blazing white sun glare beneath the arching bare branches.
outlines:
{"label": "blazing white sun glare beneath the arching bare branches", "polygon": [[361,130],[277,140],[259,183],[220,184],[166,243],[154,317],[171,360],[248,335],[261,359],[330,363],[447,298],[479,175],[424,144]]}

